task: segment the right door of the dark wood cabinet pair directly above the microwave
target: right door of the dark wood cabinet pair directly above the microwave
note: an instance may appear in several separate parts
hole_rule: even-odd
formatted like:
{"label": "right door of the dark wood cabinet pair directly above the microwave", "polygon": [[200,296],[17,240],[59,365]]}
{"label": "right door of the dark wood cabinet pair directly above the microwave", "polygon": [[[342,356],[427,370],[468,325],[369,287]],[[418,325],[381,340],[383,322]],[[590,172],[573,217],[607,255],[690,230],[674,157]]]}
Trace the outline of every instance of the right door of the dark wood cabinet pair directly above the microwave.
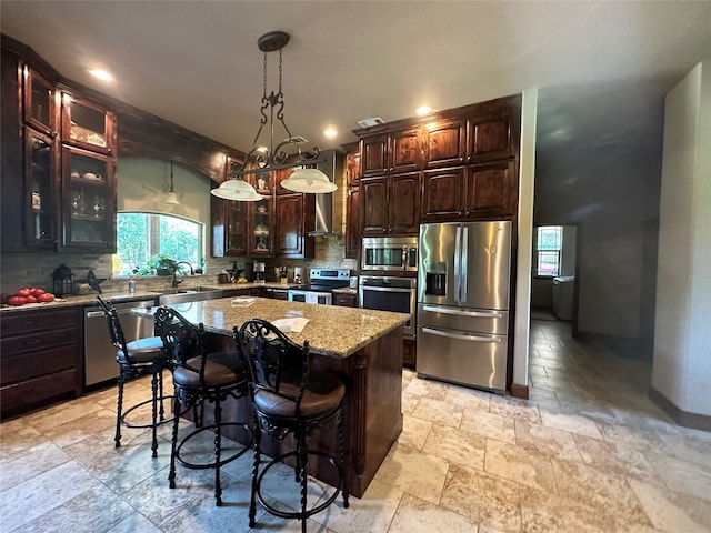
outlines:
{"label": "right door of the dark wood cabinet pair directly above the microwave", "polygon": [[393,174],[388,179],[388,232],[417,234],[420,229],[420,173]]}

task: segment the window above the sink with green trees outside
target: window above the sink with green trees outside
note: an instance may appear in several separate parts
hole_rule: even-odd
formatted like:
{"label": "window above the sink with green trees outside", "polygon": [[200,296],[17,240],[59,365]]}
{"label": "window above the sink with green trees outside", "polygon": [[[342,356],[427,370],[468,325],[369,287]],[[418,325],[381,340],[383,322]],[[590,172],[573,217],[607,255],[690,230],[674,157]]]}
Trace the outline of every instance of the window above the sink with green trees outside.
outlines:
{"label": "window above the sink with green trees outside", "polygon": [[187,261],[193,268],[204,257],[204,224],[160,213],[117,214],[117,258],[114,275],[130,275],[138,268],[147,273],[147,262],[160,254]]}

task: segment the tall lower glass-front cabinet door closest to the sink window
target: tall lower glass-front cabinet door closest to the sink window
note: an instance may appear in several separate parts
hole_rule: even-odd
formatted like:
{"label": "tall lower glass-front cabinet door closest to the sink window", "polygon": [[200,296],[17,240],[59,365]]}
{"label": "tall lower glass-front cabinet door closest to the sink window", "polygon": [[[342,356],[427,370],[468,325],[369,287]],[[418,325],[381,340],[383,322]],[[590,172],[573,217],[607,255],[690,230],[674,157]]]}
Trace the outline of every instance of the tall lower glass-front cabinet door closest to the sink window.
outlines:
{"label": "tall lower glass-front cabinet door closest to the sink window", "polygon": [[64,247],[116,249],[113,159],[73,147],[62,149]]}

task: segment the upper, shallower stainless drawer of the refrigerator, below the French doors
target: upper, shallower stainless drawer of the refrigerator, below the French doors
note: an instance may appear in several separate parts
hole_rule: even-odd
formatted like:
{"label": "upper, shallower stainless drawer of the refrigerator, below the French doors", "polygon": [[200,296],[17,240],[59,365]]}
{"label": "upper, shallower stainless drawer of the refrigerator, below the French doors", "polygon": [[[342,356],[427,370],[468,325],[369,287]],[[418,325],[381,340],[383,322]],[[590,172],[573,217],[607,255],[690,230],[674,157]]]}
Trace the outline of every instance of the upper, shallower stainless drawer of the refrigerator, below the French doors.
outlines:
{"label": "upper, shallower stainless drawer of the refrigerator, below the French doors", "polygon": [[419,303],[418,324],[434,329],[479,331],[493,335],[505,335],[509,329],[509,312]]}

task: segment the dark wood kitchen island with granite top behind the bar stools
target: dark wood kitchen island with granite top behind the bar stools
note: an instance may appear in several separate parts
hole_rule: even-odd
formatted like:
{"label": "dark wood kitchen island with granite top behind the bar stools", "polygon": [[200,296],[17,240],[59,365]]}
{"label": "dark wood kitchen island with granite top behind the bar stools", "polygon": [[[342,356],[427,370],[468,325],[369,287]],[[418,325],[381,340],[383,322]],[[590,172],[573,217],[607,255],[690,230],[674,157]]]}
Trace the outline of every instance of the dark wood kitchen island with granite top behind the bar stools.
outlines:
{"label": "dark wood kitchen island with granite top behind the bar stools", "polygon": [[[240,303],[232,303],[239,301]],[[171,305],[187,320],[204,324],[211,334],[212,350],[234,349],[232,328],[259,318],[303,318],[308,323],[300,333],[288,336],[301,344],[309,341],[314,370],[330,371],[346,384],[343,426],[346,438],[344,477],[347,491],[361,497],[402,431],[402,333],[408,314],[368,309],[316,305],[263,298],[220,299]],[[153,311],[136,310],[152,316]],[[206,408],[209,410],[209,406]],[[209,416],[209,414],[208,414]],[[242,399],[226,402],[223,416],[250,420],[249,403]],[[239,431],[227,436],[243,441]],[[312,446],[338,454],[334,431],[316,432]],[[293,446],[288,440],[284,447]],[[268,453],[278,453],[274,446]],[[311,465],[313,475],[327,482],[332,469],[326,462]]]}

